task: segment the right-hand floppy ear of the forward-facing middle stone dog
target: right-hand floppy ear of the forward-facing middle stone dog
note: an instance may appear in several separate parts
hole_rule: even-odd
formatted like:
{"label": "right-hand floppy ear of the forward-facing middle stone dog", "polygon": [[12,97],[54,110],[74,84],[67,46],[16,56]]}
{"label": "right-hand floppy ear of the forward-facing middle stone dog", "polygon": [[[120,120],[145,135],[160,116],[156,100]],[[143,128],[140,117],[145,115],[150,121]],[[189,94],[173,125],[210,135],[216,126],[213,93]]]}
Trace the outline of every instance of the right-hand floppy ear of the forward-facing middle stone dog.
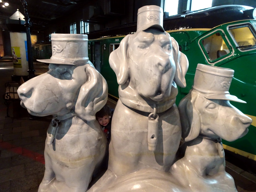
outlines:
{"label": "right-hand floppy ear of the forward-facing middle stone dog", "polygon": [[177,41],[171,37],[173,47],[173,59],[176,65],[176,71],[174,76],[174,82],[179,87],[186,87],[185,75],[188,70],[188,59],[185,54],[179,51],[179,45]]}

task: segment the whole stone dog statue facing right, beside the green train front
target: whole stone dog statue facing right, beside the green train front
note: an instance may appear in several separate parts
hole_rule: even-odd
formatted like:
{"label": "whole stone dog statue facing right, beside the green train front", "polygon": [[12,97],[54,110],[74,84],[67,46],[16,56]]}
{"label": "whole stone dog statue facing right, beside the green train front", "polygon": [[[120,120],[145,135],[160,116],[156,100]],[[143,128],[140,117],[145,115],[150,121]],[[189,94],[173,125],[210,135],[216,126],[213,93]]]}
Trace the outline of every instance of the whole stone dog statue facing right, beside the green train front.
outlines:
{"label": "whole stone dog statue facing right, beside the green train front", "polygon": [[178,106],[185,143],[171,174],[190,191],[237,192],[225,172],[221,138],[243,137],[252,120],[229,102],[246,103],[229,94],[233,74],[232,69],[198,64],[193,88]]}

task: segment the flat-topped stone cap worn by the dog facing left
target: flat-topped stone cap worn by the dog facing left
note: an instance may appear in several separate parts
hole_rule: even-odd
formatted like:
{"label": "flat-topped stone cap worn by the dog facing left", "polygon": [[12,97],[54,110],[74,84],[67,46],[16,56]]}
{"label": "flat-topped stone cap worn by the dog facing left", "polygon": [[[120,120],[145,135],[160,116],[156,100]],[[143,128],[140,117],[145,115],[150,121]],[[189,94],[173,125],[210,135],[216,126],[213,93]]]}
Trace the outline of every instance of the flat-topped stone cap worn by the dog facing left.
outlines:
{"label": "flat-topped stone cap worn by the dog facing left", "polygon": [[51,34],[52,56],[37,59],[43,63],[76,65],[88,62],[88,36],[83,34]]}

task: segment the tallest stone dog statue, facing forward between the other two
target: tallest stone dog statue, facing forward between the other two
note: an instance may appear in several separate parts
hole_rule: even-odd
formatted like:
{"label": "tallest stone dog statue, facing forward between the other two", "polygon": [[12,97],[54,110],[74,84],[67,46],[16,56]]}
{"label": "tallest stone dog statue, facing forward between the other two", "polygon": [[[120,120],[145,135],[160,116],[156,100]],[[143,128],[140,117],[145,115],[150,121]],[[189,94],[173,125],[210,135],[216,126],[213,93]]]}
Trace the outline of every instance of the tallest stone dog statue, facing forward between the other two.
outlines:
{"label": "tallest stone dog statue, facing forward between the other two", "polygon": [[[108,191],[109,183],[115,186],[141,169],[169,172],[174,163],[181,139],[176,84],[186,86],[188,60],[162,26],[161,7],[141,7],[136,33],[124,37],[110,54],[119,101],[112,118],[108,170],[89,191]],[[138,178],[145,183],[143,176]]]}

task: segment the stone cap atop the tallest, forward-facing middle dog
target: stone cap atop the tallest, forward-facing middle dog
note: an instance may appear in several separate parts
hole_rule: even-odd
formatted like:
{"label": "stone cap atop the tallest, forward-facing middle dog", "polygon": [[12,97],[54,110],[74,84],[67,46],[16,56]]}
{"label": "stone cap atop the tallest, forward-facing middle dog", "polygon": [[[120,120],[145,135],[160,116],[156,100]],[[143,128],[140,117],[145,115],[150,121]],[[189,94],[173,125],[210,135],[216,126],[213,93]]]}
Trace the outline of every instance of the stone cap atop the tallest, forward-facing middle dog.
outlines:
{"label": "stone cap atop the tallest, forward-facing middle dog", "polygon": [[138,9],[137,31],[144,31],[150,27],[163,28],[163,9],[156,5],[143,6]]}

